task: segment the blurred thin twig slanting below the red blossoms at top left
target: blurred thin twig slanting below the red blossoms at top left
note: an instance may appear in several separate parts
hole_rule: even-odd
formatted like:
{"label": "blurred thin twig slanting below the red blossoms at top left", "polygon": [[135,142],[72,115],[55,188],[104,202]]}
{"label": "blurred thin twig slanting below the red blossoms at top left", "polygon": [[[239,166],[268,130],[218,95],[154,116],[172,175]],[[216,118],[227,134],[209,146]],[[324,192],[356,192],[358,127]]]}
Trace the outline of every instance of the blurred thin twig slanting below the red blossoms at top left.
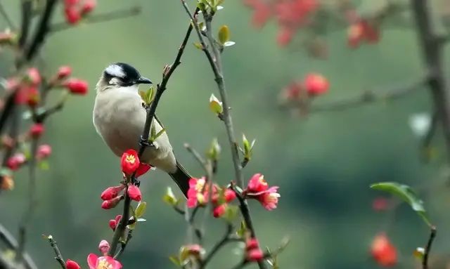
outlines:
{"label": "blurred thin twig slanting below the red blossoms at top left", "polygon": [[[90,15],[86,18],[83,23],[84,24],[93,24],[98,22],[108,22],[110,20],[120,20],[123,18],[129,18],[135,15],[139,15],[141,13],[142,8],[140,6],[133,6],[131,8],[124,8],[117,11],[111,11],[103,14],[94,14]],[[70,25],[66,22],[58,22],[54,25],[51,25],[50,32],[60,32],[65,29],[73,28],[76,25]]]}

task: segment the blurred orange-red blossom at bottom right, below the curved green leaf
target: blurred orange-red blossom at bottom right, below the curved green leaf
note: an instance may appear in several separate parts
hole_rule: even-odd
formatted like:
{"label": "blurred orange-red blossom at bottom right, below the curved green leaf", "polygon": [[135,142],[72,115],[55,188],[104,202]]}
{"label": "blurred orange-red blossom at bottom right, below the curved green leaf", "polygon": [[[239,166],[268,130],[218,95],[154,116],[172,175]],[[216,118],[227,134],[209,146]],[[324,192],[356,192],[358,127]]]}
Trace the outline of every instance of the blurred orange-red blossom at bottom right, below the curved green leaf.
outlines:
{"label": "blurred orange-red blossom at bottom right, below the curved green leaf", "polygon": [[397,249],[383,232],[375,236],[371,245],[371,254],[381,266],[388,267],[397,263]]}

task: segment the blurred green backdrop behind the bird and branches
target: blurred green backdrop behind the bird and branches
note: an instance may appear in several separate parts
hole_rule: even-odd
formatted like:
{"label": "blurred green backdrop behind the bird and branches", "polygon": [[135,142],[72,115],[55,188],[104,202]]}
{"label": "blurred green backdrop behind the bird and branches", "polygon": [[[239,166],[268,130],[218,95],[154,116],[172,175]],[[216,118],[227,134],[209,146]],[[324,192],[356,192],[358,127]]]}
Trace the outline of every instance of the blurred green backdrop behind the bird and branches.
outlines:
{"label": "blurred green backdrop behind the bird and branches", "polygon": [[[194,1],[189,2],[193,7]],[[364,2],[361,8],[370,8],[377,1],[359,2]],[[4,0],[2,4],[18,22],[18,1]],[[70,65],[74,76],[89,81],[90,91],[87,96],[72,96],[63,111],[51,117],[42,139],[53,147],[53,155],[49,171],[39,171],[39,204],[27,244],[27,251],[41,268],[58,268],[42,234],[53,235],[63,256],[86,268],[87,254],[97,253],[98,242],[113,235],[108,220],[121,214],[121,207],[109,211],[100,208],[100,193],[122,179],[120,159],[110,152],[92,124],[94,87],[101,72],[120,61],[160,81],[162,67],[172,63],[186,32],[188,18],[179,1],[99,0],[94,14],[134,5],[142,7],[141,14],[57,32],[44,46],[46,74],[53,74],[60,65]],[[309,57],[295,42],[278,46],[276,24],[272,21],[256,29],[251,16],[252,10],[242,1],[225,1],[213,26],[229,25],[231,39],[236,41],[224,51],[223,65],[236,135],[245,133],[256,139],[245,178],[260,172],[269,184],[280,186],[281,200],[275,211],[250,201],[262,246],[276,247],[283,237],[290,237],[280,256],[281,268],[378,268],[370,258],[369,247],[373,237],[385,231],[399,251],[397,267],[411,268],[413,250],[428,239],[427,226],[406,204],[394,215],[374,211],[373,199],[383,193],[368,188],[378,181],[397,181],[420,186],[425,208],[439,230],[433,254],[449,253],[450,232],[446,228],[450,225],[450,197],[441,130],[432,140],[434,157],[423,162],[420,138],[410,126],[414,114],[431,111],[426,88],[392,102],[307,117],[278,105],[281,89],[309,72],[323,74],[330,83],[328,93],[316,98],[315,104],[420,77],[423,62],[414,27],[382,28],[378,44],[356,50],[347,46],[346,29],[338,29],[323,37],[328,44],[324,60]],[[61,7],[54,20],[64,20]],[[6,26],[0,20],[0,28]],[[184,143],[204,152],[212,138],[218,138],[223,149],[218,178],[225,184],[234,174],[229,145],[223,124],[208,107],[211,93],[218,96],[217,87],[205,55],[191,45],[193,41],[194,35],[162,96],[158,115],[177,157],[194,176],[202,176],[202,170]],[[450,51],[446,52],[445,64],[450,62]],[[4,54],[0,55],[0,71],[8,73],[11,56]],[[445,72],[449,74],[448,68]],[[15,178],[15,189],[0,195],[0,222],[12,232],[25,209],[26,169]],[[124,268],[175,268],[168,256],[186,243],[186,225],[162,201],[167,185],[175,187],[161,171],[142,178],[148,221],[135,230],[122,256]],[[222,230],[221,221],[208,222],[206,247]],[[240,254],[233,254],[232,249],[221,251],[212,268],[231,268],[238,263]]]}

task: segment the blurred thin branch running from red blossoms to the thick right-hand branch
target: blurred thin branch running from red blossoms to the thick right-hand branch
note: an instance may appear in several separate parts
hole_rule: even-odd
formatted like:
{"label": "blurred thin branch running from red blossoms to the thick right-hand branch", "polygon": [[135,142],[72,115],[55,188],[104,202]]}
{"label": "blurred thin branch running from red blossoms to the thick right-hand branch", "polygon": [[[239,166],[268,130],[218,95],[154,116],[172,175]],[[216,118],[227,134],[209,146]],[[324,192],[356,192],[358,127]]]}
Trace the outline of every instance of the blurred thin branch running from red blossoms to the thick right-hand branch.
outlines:
{"label": "blurred thin branch running from red blossoms to the thick right-hand branch", "polygon": [[[336,100],[328,104],[311,105],[307,108],[308,112],[327,112],[327,111],[339,111],[347,110],[349,108],[360,107],[361,105],[367,105],[369,103],[383,102],[387,100],[396,100],[404,96],[408,96],[414,91],[418,91],[423,88],[427,83],[428,77],[419,79],[417,81],[408,82],[402,85],[391,86],[387,90],[384,88],[375,89],[371,91],[363,91],[358,96],[352,96],[342,100]],[[299,103],[288,103],[288,107],[297,107]]]}

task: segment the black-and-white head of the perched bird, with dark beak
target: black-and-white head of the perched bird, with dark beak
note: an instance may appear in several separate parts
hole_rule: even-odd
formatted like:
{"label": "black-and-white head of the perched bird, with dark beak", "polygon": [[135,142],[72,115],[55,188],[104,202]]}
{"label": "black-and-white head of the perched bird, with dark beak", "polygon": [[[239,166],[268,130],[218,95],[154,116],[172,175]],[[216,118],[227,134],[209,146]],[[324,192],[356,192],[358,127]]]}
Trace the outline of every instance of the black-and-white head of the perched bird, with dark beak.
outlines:
{"label": "black-and-white head of the perched bird, with dark beak", "polygon": [[136,68],[126,63],[113,63],[103,70],[97,83],[97,91],[114,88],[137,88],[139,84],[151,84],[152,81],[142,77]]}

